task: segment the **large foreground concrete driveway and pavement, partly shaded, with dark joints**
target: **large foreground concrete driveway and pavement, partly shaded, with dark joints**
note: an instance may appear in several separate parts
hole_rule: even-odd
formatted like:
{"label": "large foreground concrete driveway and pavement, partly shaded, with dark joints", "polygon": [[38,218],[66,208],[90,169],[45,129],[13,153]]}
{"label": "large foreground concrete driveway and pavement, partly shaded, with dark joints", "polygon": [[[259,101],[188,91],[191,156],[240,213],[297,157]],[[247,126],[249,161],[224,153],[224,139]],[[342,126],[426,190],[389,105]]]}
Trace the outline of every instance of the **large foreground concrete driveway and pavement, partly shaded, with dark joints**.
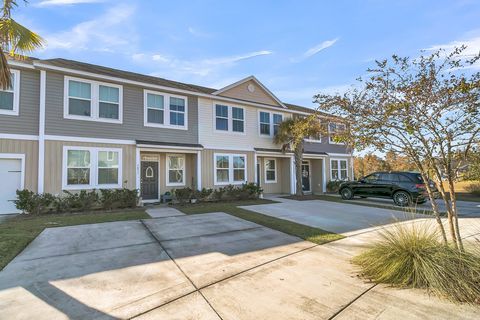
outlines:
{"label": "large foreground concrete driveway and pavement, partly shaded, with dark joints", "polygon": [[475,319],[360,280],[375,232],[318,246],[224,213],[46,229],[0,272],[0,319]]}

